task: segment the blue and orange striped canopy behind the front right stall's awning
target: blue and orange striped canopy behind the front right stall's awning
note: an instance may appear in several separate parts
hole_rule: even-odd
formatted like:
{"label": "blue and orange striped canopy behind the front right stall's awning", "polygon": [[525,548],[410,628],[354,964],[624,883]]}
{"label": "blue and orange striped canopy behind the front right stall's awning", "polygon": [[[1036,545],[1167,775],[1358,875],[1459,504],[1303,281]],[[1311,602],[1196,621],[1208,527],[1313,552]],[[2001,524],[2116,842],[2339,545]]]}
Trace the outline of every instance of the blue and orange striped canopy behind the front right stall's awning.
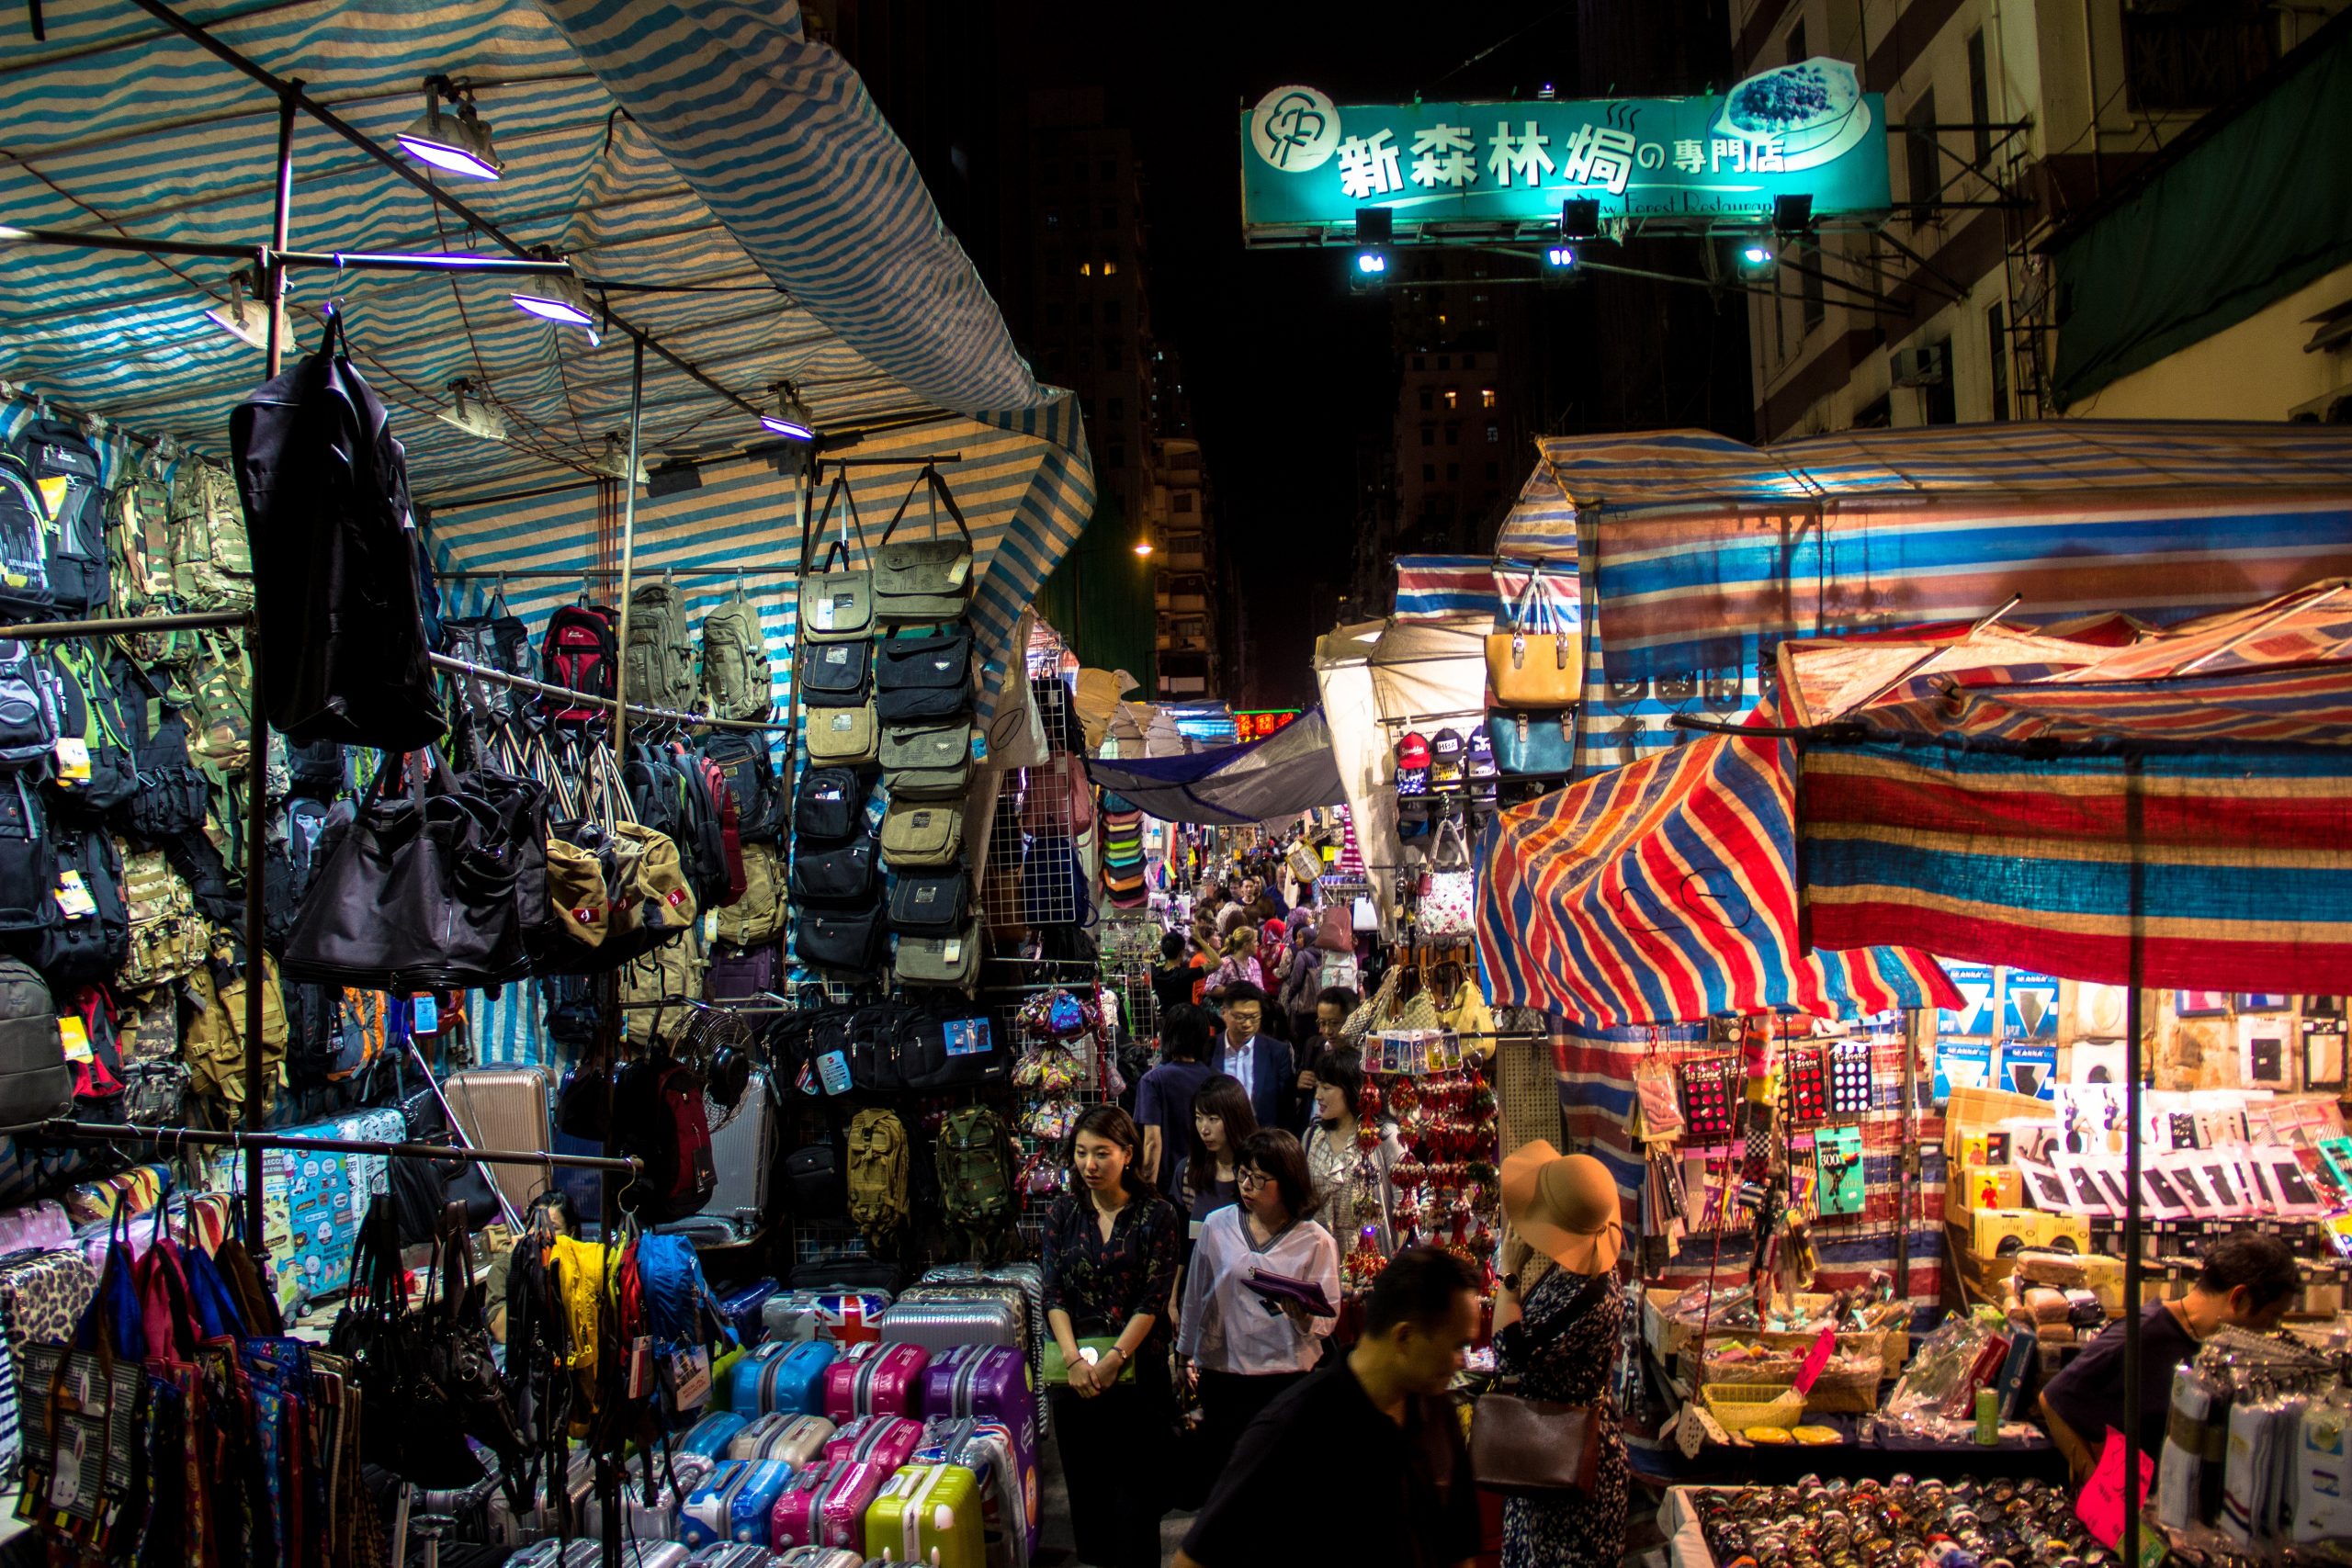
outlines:
{"label": "blue and orange striped canopy behind the front right stall's awning", "polygon": [[[1573,498],[1592,654],[1578,766],[1736,719],[1783,637],[2018,616],[2176,623],[2352,571],[2352,433],[2049,421],[1543,442]],[[1496,545],[1541,541],[1505,524]]]}

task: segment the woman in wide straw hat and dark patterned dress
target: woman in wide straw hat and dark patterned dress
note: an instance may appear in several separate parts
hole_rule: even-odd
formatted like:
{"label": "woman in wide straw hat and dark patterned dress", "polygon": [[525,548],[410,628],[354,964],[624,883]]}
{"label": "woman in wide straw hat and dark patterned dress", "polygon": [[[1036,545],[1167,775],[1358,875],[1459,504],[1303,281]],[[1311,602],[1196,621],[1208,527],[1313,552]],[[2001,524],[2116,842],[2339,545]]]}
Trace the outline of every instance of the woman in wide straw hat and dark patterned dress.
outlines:
{"label": "woman in wide straw hat and dark patterned dress", "polygon": [[1625,1295],[1616,1260],[1625,1222],[1609,1166],[1552,1145],[1503,1159],[1503,1291],[1496,1352],[1526,1399],[1592,1406],[1602,1429],[1590,1490],[1503,1502],[1503,1568],[1611,1568],[1625,1554],[1625,1439],[1609,1380]]}

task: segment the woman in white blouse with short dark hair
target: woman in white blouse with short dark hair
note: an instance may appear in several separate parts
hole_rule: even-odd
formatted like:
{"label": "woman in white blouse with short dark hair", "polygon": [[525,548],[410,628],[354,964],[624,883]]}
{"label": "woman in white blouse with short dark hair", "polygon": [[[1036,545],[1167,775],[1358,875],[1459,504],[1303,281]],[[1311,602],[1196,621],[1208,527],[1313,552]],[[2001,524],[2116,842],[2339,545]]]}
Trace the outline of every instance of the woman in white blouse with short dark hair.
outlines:
{"label": "woman in white blouse with short dark hair", "polygon": [[1242,1432],[1287,1387],[1315,1371],[1336,1319],[1270,1302],[1247,1281],[1282,1274],[1319,1286],[1338,1307],[1338,1244],[1305,1211],[1315,1201],[1308,1157],[1284,1131],[1251,1133],[1240,1150],[1242,1199],[1209,1215],[1185,1274],[1176,1354],[1200,1380],[1209,1458],[1221,1474]]}

